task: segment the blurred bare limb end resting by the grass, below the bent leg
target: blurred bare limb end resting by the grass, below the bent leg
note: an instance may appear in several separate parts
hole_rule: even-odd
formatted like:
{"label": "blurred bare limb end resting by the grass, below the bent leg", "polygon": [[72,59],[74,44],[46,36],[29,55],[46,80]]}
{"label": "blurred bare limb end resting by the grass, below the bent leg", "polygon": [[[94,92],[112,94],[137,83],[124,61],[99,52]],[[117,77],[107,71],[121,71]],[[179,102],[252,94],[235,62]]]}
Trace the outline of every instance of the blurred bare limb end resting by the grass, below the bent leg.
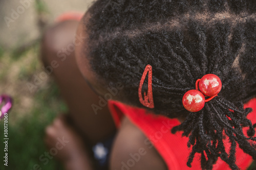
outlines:
{"label": "blurred bare limb end resting by the grass, below the bent leg", "polygon": [[66,169],[70,170],[93,169],[81,138],[65,119],[65,115],[60,115],[46,128],[45,143],[49,148],[48,158],[59,159]]}

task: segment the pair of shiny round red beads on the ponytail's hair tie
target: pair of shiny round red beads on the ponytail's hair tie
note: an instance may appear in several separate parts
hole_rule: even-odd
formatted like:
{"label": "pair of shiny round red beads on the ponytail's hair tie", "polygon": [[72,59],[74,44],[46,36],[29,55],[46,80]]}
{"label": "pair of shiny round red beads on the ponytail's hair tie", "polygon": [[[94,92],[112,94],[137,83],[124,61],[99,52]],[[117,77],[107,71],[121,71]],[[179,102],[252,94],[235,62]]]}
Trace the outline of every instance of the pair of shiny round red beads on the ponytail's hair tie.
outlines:
{"label": "pair of shiny round red beads on the ponytail's hair tie", "polygon": [[[196,90],[189,90],[183,95],[183,106],[190,112],[198,112],[204,107],[205,102],[209,102],[218,95],[221,87],[221,79],[218,76],[214,74],[205,75],[197,80]],[[205,99],[205,96],[210,98]]]}

